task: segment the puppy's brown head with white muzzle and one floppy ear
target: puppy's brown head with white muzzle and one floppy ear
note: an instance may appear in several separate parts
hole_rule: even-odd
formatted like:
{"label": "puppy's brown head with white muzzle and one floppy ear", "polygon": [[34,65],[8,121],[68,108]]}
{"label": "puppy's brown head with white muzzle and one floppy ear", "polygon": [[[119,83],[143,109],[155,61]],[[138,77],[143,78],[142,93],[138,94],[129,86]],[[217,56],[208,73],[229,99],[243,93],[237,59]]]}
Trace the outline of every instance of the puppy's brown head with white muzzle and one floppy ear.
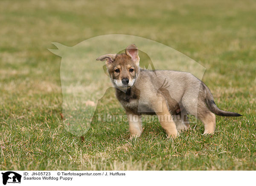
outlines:
{"label": "puppy's brown head with white muzzle and one floppy ear", "polygon": [[140,70],[140,57],[135,44],[127,46],[125,53],[106,54],[96,60],[106,60],[105,64],[115,87],[127,89],[134,85]]}

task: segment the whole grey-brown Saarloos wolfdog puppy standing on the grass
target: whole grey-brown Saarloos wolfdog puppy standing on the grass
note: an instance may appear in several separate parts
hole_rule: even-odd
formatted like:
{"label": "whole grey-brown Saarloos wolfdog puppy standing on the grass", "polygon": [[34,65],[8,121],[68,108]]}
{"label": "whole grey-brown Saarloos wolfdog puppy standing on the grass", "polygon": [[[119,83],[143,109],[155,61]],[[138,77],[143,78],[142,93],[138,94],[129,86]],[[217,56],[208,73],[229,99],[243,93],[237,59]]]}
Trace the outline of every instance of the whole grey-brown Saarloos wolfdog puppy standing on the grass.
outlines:
{"label": "whole grey-brown Saarloos wolfdog puppy standing on the grass", "polygon": [[[131,138],[140,137],[143,128],[142,114],[156,114],[168,137],[177,137],[178,131],[186,130],[186,113],[204,123],[204,134],[215,131],[215,114],[241,116],[239,113],[220,110],[209,88],[191,73],[172,70],[145,70],[139,66],[138,48],[131,44],[125,53],[106,54],[96,60],[105,61],[116,97],[128,115]],[[181,120],[174,116],[181,116]],[[169,116],[169,117],[168,117]],[[134,119],[135,118],[135,119]]]}

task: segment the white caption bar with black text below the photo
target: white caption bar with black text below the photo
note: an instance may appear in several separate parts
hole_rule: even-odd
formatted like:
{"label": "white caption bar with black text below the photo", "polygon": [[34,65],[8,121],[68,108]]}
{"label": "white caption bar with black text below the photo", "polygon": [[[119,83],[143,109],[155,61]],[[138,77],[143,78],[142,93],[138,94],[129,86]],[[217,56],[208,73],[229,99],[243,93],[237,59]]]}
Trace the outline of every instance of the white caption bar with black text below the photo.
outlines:
{"label": "white caption bar with black text below the photo", "polygon": [[0,171],[0,185],[249,185],[255,171]]}

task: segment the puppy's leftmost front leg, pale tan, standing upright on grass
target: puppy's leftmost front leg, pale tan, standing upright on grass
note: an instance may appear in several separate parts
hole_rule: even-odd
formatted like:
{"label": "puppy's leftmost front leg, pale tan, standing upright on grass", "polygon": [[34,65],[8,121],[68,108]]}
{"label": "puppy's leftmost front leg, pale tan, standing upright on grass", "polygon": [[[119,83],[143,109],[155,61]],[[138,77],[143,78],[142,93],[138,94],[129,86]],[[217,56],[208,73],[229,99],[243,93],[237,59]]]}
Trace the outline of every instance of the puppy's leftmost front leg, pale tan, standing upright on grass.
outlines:
{"label": "puppy's leftmost front leg, pale tan, standing upright on grass", "polygon": [[129,121],[129,131],[131,133],[130,139],[132,139],[133,137],[140,137],[143,131],[140,116],[132,113],[127,113],[127,116]]}

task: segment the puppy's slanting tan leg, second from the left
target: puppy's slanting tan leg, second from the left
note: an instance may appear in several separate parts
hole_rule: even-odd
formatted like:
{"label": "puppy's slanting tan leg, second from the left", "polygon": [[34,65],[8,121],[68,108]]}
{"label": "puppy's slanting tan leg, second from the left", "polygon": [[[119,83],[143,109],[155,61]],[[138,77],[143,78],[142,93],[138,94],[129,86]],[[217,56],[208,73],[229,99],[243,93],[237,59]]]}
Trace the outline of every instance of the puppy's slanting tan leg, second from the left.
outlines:
{"label": "puppy's slanting tan leg, second from the left", "polygon": [[154,100],[154,102],[152,102],[152,106],[160,120],[161,126],[167,133],[167,137],[177,137],[178,131],[175,122],[172,119],[172,115],[169,113],[165,99],[162,98]]}

